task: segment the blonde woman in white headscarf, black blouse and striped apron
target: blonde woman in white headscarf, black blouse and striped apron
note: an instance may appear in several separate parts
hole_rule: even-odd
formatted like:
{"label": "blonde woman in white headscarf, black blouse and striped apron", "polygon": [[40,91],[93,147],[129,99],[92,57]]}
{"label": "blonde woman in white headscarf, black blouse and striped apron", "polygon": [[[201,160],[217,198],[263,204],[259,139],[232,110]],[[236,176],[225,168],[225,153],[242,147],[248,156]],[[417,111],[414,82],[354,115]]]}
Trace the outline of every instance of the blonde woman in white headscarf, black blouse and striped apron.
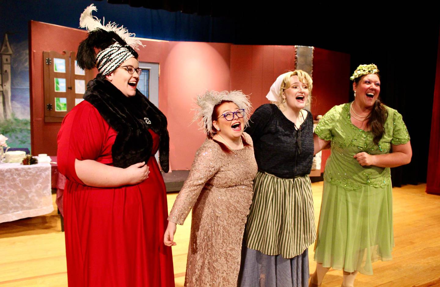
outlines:
{"label": "blonde woman in white headscarf, black blouse and striped apron", "polygon": [[280,75],[251,116],[258,173],[244,236],[239,286],[307,286],[307,248],[315,241],[312,188],[312,79]]}

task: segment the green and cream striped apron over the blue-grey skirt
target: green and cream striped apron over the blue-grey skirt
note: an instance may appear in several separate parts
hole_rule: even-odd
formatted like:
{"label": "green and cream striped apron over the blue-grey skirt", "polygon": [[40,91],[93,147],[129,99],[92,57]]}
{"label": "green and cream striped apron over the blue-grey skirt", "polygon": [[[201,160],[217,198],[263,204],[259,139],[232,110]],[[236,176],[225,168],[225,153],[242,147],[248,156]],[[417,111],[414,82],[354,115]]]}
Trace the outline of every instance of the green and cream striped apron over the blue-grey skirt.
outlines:
{"label": "green and cream striped apron over the blue-grey skirt", "polygon": [[312,185],[307,175],[278,178],[258,171],[244,234],[246,247],[293,258],[316,240]]}

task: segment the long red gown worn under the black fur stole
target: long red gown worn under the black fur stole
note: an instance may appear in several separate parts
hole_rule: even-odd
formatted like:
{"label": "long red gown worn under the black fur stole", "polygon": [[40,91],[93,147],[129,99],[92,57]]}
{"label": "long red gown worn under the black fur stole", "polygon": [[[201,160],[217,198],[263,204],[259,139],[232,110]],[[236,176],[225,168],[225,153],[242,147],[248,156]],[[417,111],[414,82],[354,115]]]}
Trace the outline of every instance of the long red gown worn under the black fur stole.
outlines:
{"label": "long red gown worn under the black fur stole", "polygon": [[75,172],[75,159],[112,164],[116,131],[83,101],[68,113],[58,134],[58,167],[64,189],[69,286],[174,287],[171,247],[163,243],[168,207],[154,153],[150,174],[137,185],[97,188]]}

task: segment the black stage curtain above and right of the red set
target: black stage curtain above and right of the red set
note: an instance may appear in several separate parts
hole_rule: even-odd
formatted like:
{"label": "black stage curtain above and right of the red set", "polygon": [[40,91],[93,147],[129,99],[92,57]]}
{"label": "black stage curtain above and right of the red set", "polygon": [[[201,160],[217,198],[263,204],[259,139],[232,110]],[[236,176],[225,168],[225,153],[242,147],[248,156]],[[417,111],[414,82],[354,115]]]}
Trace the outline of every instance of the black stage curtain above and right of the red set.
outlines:
{"label": "black stage curtain above and right of the red set", "polygon": [[[359,64],[375,63],[380,70],[382,102],[403,115],[413,149],[410,164],[392,168],[393,185],[426,182],[440,24],[437,9],[371,2],[266,6],[230,0],[107,2],[148,8],[146,13],[154,11],[150,9],[183,12],[179,15],[184,17],[173,15],[175,25],[170,29],[180,31],[174,40],[320,47],[350,54],[352,71]],[[158,15],[152,25],[167,27],[166,14]],[[352,93],[347,99],[353,99]]]}

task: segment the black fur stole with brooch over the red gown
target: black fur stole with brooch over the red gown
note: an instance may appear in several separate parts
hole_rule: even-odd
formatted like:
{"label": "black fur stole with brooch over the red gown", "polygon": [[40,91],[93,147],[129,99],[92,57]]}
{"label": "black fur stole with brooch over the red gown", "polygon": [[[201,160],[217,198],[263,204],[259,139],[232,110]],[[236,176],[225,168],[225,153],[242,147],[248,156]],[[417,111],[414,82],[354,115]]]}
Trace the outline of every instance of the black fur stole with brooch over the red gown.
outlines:
{"label": "black fur stole with brooch over the red gown", "polygon": [[[162,170],[169,169],[169,135],[165,115],[143,94],[126,97],[117,87],[98,74],[87,84],[84,100],[91,103],[106,122],[117,132],[112,147],[115,167],[129,167],[145,161],[153,149],[148,129],[159,135],[159,162]],[[147,118],[147,119],[144,119]],[[150,124],[147,122],[150,121]]]}

